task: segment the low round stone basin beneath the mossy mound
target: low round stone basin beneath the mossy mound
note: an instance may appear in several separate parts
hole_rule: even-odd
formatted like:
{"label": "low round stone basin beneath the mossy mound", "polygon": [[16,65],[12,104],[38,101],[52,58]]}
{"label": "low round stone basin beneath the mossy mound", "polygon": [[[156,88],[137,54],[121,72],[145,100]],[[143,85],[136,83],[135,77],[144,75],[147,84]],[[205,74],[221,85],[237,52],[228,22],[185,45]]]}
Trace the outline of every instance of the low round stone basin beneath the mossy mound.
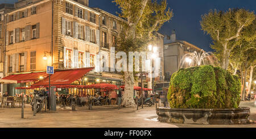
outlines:
{"label": "low round stone basin beneath the mossy mound", "polygon": [[247,124],[249,123],[250,108],[239,107],[230,109],[156,109],[158,120],[166,123],[183,124]]}

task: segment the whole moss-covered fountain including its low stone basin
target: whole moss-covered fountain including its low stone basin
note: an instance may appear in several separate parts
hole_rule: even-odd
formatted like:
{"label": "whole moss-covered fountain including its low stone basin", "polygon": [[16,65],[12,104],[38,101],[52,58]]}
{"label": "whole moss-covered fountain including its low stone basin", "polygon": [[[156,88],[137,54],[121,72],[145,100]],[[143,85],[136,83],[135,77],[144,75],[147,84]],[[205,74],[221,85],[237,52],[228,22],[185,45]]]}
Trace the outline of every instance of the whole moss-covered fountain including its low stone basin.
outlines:
{"label": "whole moss-covered fountain including its low stone basin", "polygon": [[158,120],[184,124],[246,124],[249,107],[240,104],[240,78],[211,65],[180,69],[172,74],[170,108],[156,109]]}

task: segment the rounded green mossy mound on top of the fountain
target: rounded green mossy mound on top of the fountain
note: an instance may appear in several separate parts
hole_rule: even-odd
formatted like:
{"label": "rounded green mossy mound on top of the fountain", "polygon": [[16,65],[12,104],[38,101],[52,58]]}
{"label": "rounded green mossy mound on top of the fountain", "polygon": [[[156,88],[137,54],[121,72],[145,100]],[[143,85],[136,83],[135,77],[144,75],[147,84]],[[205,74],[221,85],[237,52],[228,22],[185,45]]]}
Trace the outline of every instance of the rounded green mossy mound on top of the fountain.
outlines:
{"label": "rounded green mossy mound on top of the fountain", "polygon": [[204,65],[172,74],[167,99],[171,108],[237,108],[240,92],[236,75]]}

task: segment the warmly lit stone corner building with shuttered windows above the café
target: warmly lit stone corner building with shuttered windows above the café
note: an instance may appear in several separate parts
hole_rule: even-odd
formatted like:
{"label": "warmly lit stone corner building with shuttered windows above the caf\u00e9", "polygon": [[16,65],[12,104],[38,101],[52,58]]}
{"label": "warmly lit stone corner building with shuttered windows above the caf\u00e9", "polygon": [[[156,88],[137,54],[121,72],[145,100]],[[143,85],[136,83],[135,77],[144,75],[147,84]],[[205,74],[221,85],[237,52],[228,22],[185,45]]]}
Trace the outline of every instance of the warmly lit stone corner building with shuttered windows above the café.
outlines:
{"label": "warmly lit stone corner building with shuttered windows above the caf\u00e9", "polygon": [[[97,54],[110,53],[111,47],[118,46],[118,35],[126,23],[109,12],[90,8],[88,0],[19,0],[2,18],[4,77],[46,71],[46,66],[55,70],[95,67]],[[163,35],[156,34],[163,65]],[[96,70],[73,83],[100,82],[123,85],[120,73]],[[33,83],[7,84],[3,88],[14,95],[15,87]]]}

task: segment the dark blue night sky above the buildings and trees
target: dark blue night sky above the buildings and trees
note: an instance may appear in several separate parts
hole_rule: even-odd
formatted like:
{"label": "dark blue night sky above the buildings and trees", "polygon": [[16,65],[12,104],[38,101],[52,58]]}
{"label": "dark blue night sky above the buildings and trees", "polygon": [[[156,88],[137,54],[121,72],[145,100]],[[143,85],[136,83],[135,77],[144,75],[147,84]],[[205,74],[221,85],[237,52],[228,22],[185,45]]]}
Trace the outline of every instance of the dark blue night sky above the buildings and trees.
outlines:
{"label": "dark blue night sky above the buildings and trees", "polygon": [[[18,0],[0,0],[0,3],[14,3]],[[112,14],[118,11],[118,7],[112,0],[89,0],[90,7],[98,7]],[[205,51],[212,51],[209,45],[212,40],[201,31],[201,15],[208,13],[210,9],[228,10],[229,8],[244,8],[255,11],[255,0],[167,0],[168,7],[174,12],[170,22],[164,24],[160,33],[171,35],[176,31],[177,40],[185,40],[189,43],[203,48]]]}

